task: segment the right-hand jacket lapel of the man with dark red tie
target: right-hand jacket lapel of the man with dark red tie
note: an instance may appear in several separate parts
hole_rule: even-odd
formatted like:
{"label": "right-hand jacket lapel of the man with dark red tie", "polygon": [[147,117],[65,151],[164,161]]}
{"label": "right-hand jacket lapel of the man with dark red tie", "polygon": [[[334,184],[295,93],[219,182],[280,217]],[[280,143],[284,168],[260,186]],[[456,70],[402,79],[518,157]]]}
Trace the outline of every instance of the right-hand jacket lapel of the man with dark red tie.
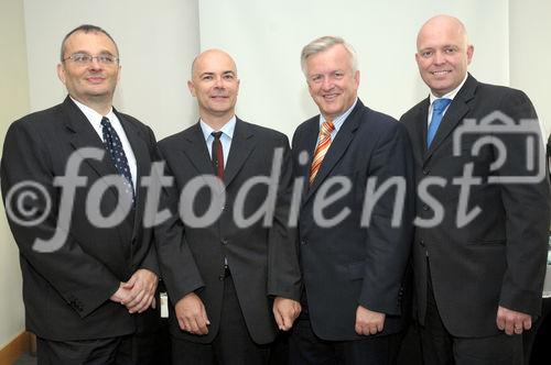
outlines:
{"label": "right-hand jacket lapel of the man with dark red tie", "polygon": [[224,169],[224,184],[229,186],[237,173],[255,150],[255,135],[250,126],[242,120],[237,119],[234,137],[231,139],[231,147],[229,148],[227,166]]}

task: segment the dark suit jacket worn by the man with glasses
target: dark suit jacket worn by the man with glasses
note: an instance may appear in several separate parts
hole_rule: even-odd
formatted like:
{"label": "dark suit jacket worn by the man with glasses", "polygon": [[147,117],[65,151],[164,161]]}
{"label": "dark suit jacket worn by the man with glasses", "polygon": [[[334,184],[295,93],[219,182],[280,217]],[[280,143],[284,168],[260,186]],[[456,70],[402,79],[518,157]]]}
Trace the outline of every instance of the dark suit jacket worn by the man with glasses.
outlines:
{"label": "dark suit jacket worn by the man with glasses", "polygon": [[[156,151],[153,132],[132,117],[115,112],[136,155],[138,175],[149,175],[151,156]],[[79,167],[79,176],[86,177],[87,184],[76,189],[65,244],[52,253],[32,248],[35,239],[50,240],[58,225],[62,189],[53,186],[53,179],[65,175],[67,159],[82,147],[105,151],[94,128],[67,97],[62,104],[12,123],[1,162],[4,199],[15,184],[31,180],[42,185],[52,201],[51,211],[39,225],[22,226],[8,219],[20,250],[26,328],[55,341],[133,332],[134,316],[109,297],[138,268],[159,272],[152,232],[141,228],[144,189],[138,188],[133,217],[130,214],[117,226],[96,228],[87,219],[86,198],[91,185],[102,176],[117,174],[108,153],[101,161],[85,159]],[[12,201],[20,197],[22,192],[18,190]],[[35,209],[33,218],[45,210],[44,199],[24,199],[24,202],[26,211]],[[117,202],[116,189],[108,188],[100,203],[104,215]]]}

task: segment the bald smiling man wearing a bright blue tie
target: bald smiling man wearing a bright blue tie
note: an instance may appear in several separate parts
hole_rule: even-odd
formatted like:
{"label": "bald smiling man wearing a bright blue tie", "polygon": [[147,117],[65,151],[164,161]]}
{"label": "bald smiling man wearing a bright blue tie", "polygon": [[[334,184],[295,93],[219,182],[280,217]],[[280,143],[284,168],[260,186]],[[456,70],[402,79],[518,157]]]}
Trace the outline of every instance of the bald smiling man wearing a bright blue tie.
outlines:
{"label": "bald smiling man wearing a bright blue tie", "polygon": [[[417,318],[425,364],[521,364],[521,333],[540,313],[550,217],[549,180],[542,170],[527,182],[527,162],[541,166],[544,152],[536,143],[537,161],[527,155],[523,131],[539,131],[528,97],[478,82],[467,73],[473,53],[455,18],[434,16],[419,32],[415,60],[430,95],[401,118],[418,186],[429,182],[417,202]],[[486,129],[461,134],[467,119],[496,111]],[[521,132],[499,133],[504,121]]]}

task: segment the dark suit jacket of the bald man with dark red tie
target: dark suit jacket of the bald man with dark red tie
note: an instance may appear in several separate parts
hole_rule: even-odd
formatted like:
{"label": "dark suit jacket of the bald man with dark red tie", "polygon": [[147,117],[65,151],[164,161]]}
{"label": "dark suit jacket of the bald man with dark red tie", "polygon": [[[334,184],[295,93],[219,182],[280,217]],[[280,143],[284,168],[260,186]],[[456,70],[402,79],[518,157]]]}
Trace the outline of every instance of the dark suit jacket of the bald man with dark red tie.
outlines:
{"label": "dark suit jacket of the bald man with dark red tie", "polygon": [[[173,203],[191,180],[203,182],[202,176],[214,177],[213,164],[198,123],[159,142],[159,147],[166,161],[168,175],[175,178],[176,190],[171,192]],[[263,226],[263,219],[239,228],[234,219],[236,197],[251,178],[270,175],[276,148],[282,148],[284,153],[271,228]],[[271,297],[295,300],[300,297],[295,231],[288,226],[291,179],[288,139],[279,132],[238,119],[224,173],[226,202],[223,207],[214,207],[220,215],[213,224],[199,228],[180,221],[179,224],[184,226],[181,245],[165,244],[170,240],[159,240],[161,270],[171,302],[175,305],[186,294],[195,291],[203,300],[210,320],[208,334],[197,336],[181,331],[171,312],[174,335],[207,343],[218,332],[224,289],[220,275],[224,274],[226,257],[252,340],[263,344],[274,339]],[[245,218],[261,208],[267,196],[268,187],[256,185],[245,200]],[[195,214],[201,217],[210,206],[212,198],[210,190],[204,188],[195,196],[187,195],[186,202],[193,203]]]}

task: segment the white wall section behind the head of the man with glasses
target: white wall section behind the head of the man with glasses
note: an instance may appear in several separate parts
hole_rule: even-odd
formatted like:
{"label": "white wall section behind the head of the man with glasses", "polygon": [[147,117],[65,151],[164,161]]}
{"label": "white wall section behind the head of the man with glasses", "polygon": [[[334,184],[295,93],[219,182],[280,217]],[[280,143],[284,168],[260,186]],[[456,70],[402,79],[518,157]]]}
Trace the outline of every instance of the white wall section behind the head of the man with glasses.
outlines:
{"label": "white wall section behind the head of the man with glasses", "polygon": [[24,0],[31,109],[60,103],[63,37],[91,23],[117,42],[122,74],[114,104],[149,124],[158,139],[195,122],[188,65],[198,51],[197,0]]}

